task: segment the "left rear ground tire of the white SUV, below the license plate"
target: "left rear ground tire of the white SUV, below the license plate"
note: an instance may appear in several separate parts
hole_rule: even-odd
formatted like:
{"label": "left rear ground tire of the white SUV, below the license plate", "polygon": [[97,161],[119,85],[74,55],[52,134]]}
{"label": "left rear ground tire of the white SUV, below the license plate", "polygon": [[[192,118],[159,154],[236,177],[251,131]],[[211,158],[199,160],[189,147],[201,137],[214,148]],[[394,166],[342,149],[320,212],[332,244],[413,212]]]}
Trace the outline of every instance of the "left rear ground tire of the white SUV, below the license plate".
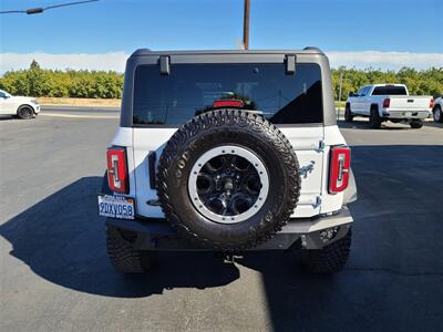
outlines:
{"label": "left rear ground tire of the white SUV, below the license plate", "polygon": [[106,228],[106,249],[114,269],[123,273],[144,273],[154,261],[152,251],[135,250],[117,228]]}

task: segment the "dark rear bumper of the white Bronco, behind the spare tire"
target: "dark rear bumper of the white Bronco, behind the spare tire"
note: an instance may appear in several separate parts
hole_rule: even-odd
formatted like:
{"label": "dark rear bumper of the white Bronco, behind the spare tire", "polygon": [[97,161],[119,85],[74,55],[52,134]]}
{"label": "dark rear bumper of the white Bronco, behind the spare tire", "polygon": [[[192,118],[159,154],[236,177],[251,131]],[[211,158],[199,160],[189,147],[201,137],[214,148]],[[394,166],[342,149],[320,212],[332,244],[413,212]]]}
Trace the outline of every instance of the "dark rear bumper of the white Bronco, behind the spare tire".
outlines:
{"label": "dark rear bumper of the white Bronco, behind the spare tire", "polygon": [[[352,216],[346,206],[331,216],[290,219],[272,239],[248,250],[286,250],[296,243],[300,243],[305,249],[320,249],[344,237],[352,221]],[[138,250],[208,250],[179,238],[166,219],[106,218],[105,225],[136,232],[137,236],[131,243]]]}

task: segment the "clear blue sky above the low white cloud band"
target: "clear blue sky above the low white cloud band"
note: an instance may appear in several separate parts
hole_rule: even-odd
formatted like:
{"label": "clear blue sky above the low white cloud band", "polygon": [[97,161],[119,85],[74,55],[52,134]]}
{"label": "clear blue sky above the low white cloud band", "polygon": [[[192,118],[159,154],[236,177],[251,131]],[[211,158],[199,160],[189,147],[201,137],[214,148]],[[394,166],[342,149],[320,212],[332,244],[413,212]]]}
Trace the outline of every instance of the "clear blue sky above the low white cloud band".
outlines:
{"label": "clear blue sky above the low white cloud band", "polygon": [[[69,1],[2,0],[1,10]],[[37,15],[2,14],[1,53],[126,56],[137,48],[238,49],[243,2],[101,0]],[[351,52],[348,62],[361,51],[433,53],[437,55],[430,64],[435,65],[443,54],[442,12],[442,0],[251,0],[250,49],[317,45],[337,54]],[[13,66],[10,61],[3,58],[2,70]]]}

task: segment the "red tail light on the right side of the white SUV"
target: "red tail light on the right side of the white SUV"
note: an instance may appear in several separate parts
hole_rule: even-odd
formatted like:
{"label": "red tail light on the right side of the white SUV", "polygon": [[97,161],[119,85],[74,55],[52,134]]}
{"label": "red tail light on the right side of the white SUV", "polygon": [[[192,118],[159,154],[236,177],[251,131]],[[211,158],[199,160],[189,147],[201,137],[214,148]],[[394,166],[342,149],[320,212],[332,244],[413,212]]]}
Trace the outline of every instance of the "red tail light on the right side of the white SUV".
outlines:
{"label": "red tail light on the right side of the white SUV", "polygon": [[348,146],[334,146],[331,148],[329,165],[329,193],[343,191],[349,183],[349,169],[351,166],[351,149]]}

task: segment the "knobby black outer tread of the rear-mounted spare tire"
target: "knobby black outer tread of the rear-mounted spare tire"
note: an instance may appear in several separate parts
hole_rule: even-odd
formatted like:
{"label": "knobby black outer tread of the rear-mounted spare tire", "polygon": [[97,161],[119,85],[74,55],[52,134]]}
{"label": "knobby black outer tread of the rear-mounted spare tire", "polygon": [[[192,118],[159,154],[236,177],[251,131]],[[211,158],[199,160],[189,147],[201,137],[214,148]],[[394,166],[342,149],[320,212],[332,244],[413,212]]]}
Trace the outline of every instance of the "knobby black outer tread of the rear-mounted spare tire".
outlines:
{"label": "knobby black outer tread of the rear-mounted spare tire", "polygon": [[[260,136],[261,139],[271,144],[278,151],[278,153],[282,156],[281,159],[284,160],[285,167],[288,170],[287,181],[289,184],[289,199],[285,204],[285,210],[280,214],[281,217],[276,219],[272,218],[271,215],[265,215],[261,221],[257,224],[258,226],[251,227],[249,230],[256,236],[251,237],[250,240],[241,245],[229,241],[209,241],[207,238],[193,232],[183,222],[181,217],[175,214],[169,196],[167,195],[168,187],[166,179],[172,176],[172,174],[169,174],[169,166],[172,162],[181,154],[181,147],[190,144],[195,133],[198,133],[203,129],[217,128],[224,125],[235,125],[240,128],[248,127],[254,131]],[[272,238],[277,231],[281,230],[281,227],[287,224],[290,215],[297,206],[300,195],[300,181],[297,156],[289,141],[277,128],[277,126],[268,122],[262,116],[251,112],[225,108],[207,112],[192,118],[171,137],[159,158],[156,183],[163,212],[165,214],[166,219],[182,236],[197,241],[204,247],[210,247],[212,249],[237,251],[256,247],[261,242]]]}

